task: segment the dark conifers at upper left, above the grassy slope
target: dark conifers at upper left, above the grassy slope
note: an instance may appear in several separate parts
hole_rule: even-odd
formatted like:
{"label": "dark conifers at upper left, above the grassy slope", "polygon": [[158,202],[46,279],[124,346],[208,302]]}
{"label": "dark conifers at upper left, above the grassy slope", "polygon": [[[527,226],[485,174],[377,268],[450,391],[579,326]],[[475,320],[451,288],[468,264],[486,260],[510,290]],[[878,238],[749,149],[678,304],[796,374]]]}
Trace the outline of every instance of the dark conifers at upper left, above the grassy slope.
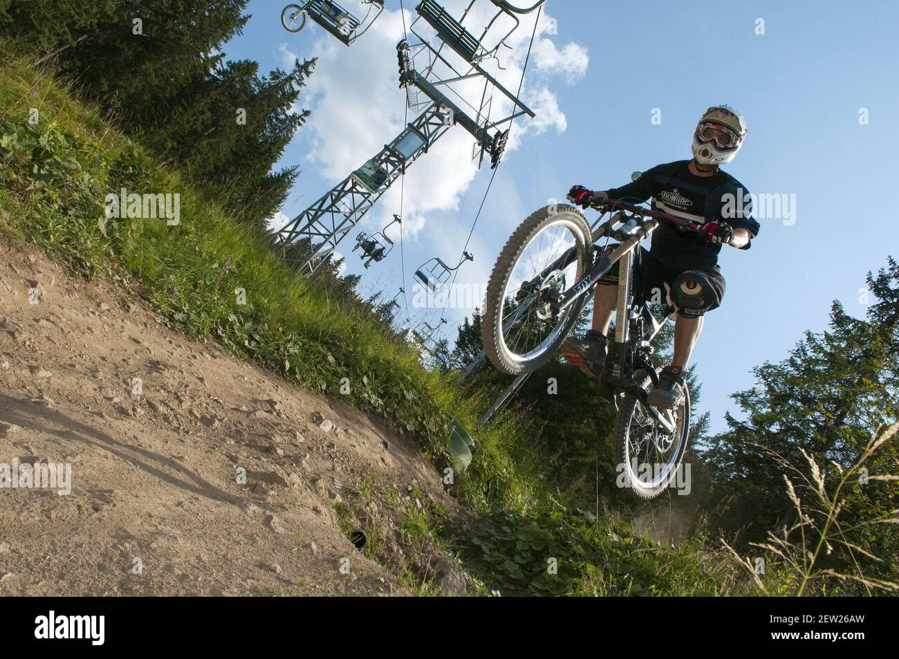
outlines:
{"label": "dark conifers at upper left, above the grassy slope", "polygon": [[156,159],[263,228],[296,165],[274,170],[309,116],[294,111],[315,59],[260,72],[227,60],[248,0],[0,0],[0,36],[52,63]]}

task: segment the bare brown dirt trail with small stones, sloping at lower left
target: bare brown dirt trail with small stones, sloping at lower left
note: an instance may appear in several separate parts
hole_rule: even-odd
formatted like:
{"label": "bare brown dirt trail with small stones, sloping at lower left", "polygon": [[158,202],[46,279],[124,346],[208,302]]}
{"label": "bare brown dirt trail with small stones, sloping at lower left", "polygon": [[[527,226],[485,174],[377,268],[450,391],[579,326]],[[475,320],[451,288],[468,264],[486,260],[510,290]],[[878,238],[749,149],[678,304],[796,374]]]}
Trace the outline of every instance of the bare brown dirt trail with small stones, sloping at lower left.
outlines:
{"label": "bare brown dirt trail with small stones, sloping at lower left", "polygon": [[[453,507],[415,447],[365,414],[0,236],[0,474],[13,459],[70,464],[71,494],[0,487],[2,594],[407,594],[334,501],[372,477]],[[385,515],[356,516],[389,530]]]}

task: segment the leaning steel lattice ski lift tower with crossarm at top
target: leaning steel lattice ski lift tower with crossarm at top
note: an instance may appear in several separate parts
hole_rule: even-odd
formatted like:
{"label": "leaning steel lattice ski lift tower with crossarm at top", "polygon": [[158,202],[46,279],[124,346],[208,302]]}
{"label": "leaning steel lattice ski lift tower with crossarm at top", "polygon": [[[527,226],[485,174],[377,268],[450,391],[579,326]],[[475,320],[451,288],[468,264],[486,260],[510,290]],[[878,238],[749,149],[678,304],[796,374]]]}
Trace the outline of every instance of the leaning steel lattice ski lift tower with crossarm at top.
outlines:
{"label": "leaning steel lattice ski lift tower with crossarm at top", "polygon": [[[496,10],[480,37],[464,25],[473,22],[472,9],[478,2]],[[420,114],[376,156],[280,227],[272,243],[285,262],[298,272],[315,272],[396,179],[405,174],[406,168],[457,124],[475,138],[473,158],[478,167],[485,156],[490,157],[493,167],[499,164],[509,138],[507,124],[522,115],[533,117],[534,112],[491,76],[485,63],[496,58],[503,47],[511,48],[506,40],[518,28],[518,16],[533,12],[544,2],[539,0],[522,9],[505,0],[471,0],[458,21],[433,0],[423,0],[415,8],[418,18],[411,31],[417,41],[400,41],[396,53],[400,87],[406,91],[409,108]],[[503,16],[512,18],[512,29],[496,36],[498,31],[494,28]],[[422,28],[429,28],[432,34],[423,35]],[[455,57],[444,54],[444,46]],[[422,58],[420,70],[415,67],[415,58]],[[473,85],[483,85],[477,106],[464,95]],[[501,112],[501,117],[491,117],[491,90],[512,102],[511,109]]]}

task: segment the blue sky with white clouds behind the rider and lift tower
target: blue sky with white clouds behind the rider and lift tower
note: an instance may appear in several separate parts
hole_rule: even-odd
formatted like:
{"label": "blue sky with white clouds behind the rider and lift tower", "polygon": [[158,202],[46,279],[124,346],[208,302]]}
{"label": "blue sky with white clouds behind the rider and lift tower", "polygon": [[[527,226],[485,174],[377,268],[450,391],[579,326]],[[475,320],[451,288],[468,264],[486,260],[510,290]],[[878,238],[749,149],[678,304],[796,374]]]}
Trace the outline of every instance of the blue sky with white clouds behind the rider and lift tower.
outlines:
{"label": "blue sky with white clouds behind the rider and lift tower", "polygon": [[[343,4],[355,10],[359,3]],[[415,4],[405,2],[407,22]],[[285,67],[294,56],[320,56],[298,102],[314,112],[312,120],[281,161],[303,170],[287,216],[402,127],[399,6],[387,0],[372,30],[347,49],[317,25],[284,31],[282,3],[254,0],[245,34],[226,45],[229,58],[253,58],[263,70]],[[899,4],[548,0],[546,13],[557,33],[539,30],[522,94],[538,118],[513,129],[512,150],[469,245],[476,260],[463,266],[458,282],[482,284],[512,230],[548,199],[563,198],[574,183],[605,189],[626,183],[635,170],[689,157],[701,112],[733,105],[746,116],[749,135],[725,169],[754,193],[794,199],[795,212],[792,220],[761,218],[748,252],[722,252],[727,292],[707,317],[694,361],[703,383],[699,411],[711,410],[713,430],[723,429],[725,410],[735,413],[728,395],[752,387],[753,366],[784,358],[807,329],[823,329],[832,299],[863,315],[866,272],[884,265],[887,254],[899,255],[888,196],[897,187],[888,163],[899,151]],[[759,19],[763,34],[756,33]],[[523,23],[503,62],[513,88],[532,26]],[[661,122],[654,122],[659,112]],[[859,120],[866,115],[867,123]],[[406,176],[410,293],[419,264],[433,256],[458,263],[491,174],[489,165],[479,172],[468,165],[470,147],[456,127]],[[398,206],[392,190],[360,228],[377,230]],[[393,298],[404,279],[399,250],[363,271],[349,243],[341,251],[352,272],[365,273],[362,291],[383,289]],[[416,320],[441,316],[441,309],[412,311]],[[451,337],[467,311],[446,312]]]}

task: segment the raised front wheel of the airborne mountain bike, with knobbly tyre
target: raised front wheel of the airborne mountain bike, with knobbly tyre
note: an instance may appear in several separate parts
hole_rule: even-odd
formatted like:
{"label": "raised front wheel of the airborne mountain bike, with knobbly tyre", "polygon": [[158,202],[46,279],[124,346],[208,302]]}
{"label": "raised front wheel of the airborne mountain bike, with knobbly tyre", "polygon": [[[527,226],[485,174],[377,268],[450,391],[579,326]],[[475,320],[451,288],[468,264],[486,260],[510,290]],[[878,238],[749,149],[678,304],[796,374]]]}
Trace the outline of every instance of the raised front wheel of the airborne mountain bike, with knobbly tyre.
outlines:
{"label": "raised front wheel of the airborne mountain bike, with knobbly tyre", "polygon": [[553,356],[587,296],[562,313],[554,313],[550,301],[580,279],[591,256],[590,225],[572,206],[547,206],[521,223],[487,284],[481,338],[494,367],[519,375]]}

